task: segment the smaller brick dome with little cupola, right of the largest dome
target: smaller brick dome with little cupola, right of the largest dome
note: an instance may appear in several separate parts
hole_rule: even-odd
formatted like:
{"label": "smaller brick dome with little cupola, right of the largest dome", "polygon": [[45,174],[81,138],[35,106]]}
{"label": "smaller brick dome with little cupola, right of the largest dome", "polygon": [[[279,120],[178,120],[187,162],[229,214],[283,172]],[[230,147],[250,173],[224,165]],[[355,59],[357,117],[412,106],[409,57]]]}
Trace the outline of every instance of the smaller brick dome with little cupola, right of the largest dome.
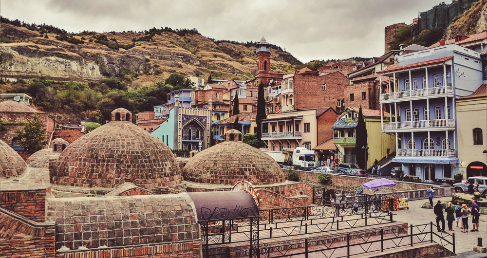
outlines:
{"label": "smaller brick dome with little cupola, right of the largest dome", "polygon": [[191,158],[183,168],[186,181],[203,184],[275,184],[285,181],[281,167],[266,153],[242,142],[242,133],[232,129],[225,142]]}

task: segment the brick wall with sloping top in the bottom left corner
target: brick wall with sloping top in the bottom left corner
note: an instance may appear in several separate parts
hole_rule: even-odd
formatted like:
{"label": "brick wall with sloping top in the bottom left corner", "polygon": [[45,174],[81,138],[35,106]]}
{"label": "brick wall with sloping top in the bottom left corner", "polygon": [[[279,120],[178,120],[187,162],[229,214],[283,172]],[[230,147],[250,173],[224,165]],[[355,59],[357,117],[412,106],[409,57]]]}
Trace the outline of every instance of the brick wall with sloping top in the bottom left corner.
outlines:
{"label": "brick wall with sloping top in the bottom left corner", "polygon": [[55,256],[55,226],[37,223],[0,209],[0,257]]}

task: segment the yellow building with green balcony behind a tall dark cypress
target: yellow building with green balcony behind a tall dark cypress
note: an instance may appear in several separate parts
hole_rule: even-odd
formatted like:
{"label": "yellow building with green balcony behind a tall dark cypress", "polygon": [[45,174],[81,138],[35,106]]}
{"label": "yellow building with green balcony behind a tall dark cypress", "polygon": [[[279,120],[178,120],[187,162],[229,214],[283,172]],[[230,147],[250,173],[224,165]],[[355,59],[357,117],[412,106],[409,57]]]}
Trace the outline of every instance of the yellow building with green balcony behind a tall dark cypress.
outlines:
{"label": "yellow building with green balcony behind a tall dark cypress", "polygon": [[[340,162],[357,164],[357,155],[362,154],[355,151],[358,110],[354,107],[346,108],[332,127],[333,143],[339,149]],[[381,133],[379,110],[362,109],[362,113],[367,128],[367,147],[369,147],[367,168],[369,168],[374,165],[375,159],[379,161],[395,151],[395,137]],[[387,116],[389,113],[384,112],[384,120],[389,119]]]}

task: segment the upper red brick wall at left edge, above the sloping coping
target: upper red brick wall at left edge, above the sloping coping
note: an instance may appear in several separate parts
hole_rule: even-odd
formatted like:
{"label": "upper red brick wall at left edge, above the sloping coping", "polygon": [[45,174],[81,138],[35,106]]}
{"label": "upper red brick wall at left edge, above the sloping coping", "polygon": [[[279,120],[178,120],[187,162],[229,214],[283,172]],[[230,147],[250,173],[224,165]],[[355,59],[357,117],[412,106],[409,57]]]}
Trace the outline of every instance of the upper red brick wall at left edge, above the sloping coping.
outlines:
{"label": "upper red brick wall at left edge, above the sloping coping", "polygon": [[33,221],[44,221],[46,189],[0,192],[0,206]]}

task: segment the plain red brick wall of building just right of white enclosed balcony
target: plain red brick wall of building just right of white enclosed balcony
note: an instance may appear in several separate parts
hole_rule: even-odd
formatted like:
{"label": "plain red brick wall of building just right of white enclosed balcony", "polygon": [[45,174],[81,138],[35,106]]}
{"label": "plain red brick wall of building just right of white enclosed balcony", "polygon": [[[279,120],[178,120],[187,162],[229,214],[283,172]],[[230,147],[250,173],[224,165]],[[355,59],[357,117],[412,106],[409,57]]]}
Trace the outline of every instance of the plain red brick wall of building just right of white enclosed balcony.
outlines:
{"label": "plain red brick wall of building just right of white enclosed balcony", "polygon": [[[321,85],[326,83],[326,90]],[[295,109],[333,107],[337,110],[337,100],[343,99],[343,85],[349,79],[340,72],[318,76],[314,74],[294,74]]]}

